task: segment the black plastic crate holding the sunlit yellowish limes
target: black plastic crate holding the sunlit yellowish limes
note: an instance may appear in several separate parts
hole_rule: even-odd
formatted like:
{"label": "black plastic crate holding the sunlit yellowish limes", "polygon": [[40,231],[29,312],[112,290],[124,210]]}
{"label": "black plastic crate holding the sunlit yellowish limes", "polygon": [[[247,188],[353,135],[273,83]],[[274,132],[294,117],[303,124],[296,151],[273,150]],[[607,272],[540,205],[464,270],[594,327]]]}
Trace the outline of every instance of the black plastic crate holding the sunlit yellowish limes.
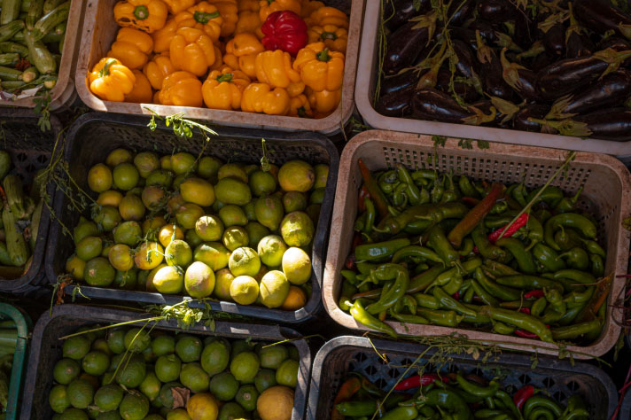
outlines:
{"label": "black plastic crate holding the sunlit yellowish limes", "polygon": [[[171,153],[187,151],[193,154],[201,151],[202,136],[195,130],[191,138],[175,136],[172,128],[164,127],[150,131],[147,128],[148,118],[130,117],[116,114],[88,113],[74,122],[67,135],[64,159],[70,164],[70,175],[84,191],[87,186],[88,170],[98,162],[105,160],[109,152],[118,147],[125,147],[137,152],[151,150]],[[266,140],[270,163],[282,164],[289,159],[303,159],[311,164],[329,165],[329,178],[320,212],[320,219],[315,229],[312,246],[311,274],[312,292],[305,307],[297,311],[283,311],[266,307],[243,306],[232,302],[192,300],[191,307],[204,307],[210,304],[213,310],[232,314],[253,316],[268,319],[277,323],[303,323],[313,319],[323,308],[322,277],[323,261],[325,261],[331,210],[337,183],[339,154],[333,144],[322,135],[315,133],[284,134],[273,131],[246,130],[238,128],[211,127],[218,136],[210,136],[210,144],[206,147],[206,155],[216,156],[226,161],[244,161],[259,163],[262,156],[261,138]],[[68,198],[57,191],[55,196],[55,213],[68,229],[74,228],[80,214],[67,211]],[[88,216],[88,210],[83,214]],[[46,255],[46,276],[51,284],[57,282],[58,275],[64,273],[66,259],[74,252],[74,243],[58,223],[51,226]],[[74,286],[66,291],[73,292]],[[182,301],[182,296],[162,295],[154,292],[121,291],[110,288],[91,287],[82,284],[82,295],[90,299],[108,299],[127,302],[173,305]]]}

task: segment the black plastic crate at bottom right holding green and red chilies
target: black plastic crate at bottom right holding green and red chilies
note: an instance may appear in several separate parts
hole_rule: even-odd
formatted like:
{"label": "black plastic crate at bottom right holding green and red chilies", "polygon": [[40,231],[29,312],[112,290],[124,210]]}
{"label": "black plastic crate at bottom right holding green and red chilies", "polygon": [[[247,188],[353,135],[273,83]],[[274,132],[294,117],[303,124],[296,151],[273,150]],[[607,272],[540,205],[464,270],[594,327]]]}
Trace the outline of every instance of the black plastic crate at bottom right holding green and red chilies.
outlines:
{"label": "black plastic crate at bottom right holding green and red chilies", "polygon": [[[309,385],[309,403],[306,418],[329,418],[333,400],[342,379],[348,372],[358,372],[381,389],[389,391],[401,374],[423,357],[417,366],[429,363],[435,348],[407,343],[373,339],[372,344],[388,362],[379,358],[368,338],[342,336],[327,342],[315,355],[314,368]],[[564,403],[573,394],[579,394],[588,403],[591,420],[609,420],[618,404],[617,391],[612,379],[603,370],[585,363],[570,363],[539,356],[535,369],[533,360],[521,354],[492,355],[487,362],[474,360],[466,354],[449,354],[445,365],[427,367],[427,372],[440,369],[443,372],[464,370],[487,379],[493,378],[500,369],[505,377],[502,385],[509,393],[523,385],[546,389],[555,401]],[[409,369],[408,376],[416,375],[417,369]],[[620,417],[629,418],[627,417]]]}

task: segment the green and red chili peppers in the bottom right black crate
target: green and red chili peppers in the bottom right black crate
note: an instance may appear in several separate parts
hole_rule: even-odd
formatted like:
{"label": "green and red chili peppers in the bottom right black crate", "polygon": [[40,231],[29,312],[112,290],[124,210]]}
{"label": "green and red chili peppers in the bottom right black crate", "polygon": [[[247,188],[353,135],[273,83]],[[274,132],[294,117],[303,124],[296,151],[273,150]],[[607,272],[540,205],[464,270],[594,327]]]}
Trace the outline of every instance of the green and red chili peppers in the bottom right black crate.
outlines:
{"label": "green and red chili peppers in the bottom right black crate", "polygon": [[487,381],[463,372],[413,375],[389,395],[354,373],[339,389],[331,420],[369,420],[373,416],[380,420],[587,420],[589,413],[585,401],[576,394],[563,407],[533,385],[524,385],[510,396],[498,378]]}

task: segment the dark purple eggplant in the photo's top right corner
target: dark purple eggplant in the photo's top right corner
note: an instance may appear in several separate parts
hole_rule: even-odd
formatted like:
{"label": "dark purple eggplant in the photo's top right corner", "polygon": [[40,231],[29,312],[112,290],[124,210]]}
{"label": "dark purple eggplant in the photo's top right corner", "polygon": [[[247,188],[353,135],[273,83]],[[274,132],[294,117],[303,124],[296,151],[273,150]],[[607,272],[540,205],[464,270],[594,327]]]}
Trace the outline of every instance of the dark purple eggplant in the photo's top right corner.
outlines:
{"label": "dark purple eggplant in the photo's top right corner", "polygon": [[609,0],[574,0],[573,12],[580,23],[596,34],[613,30],[631,39],[631,16]]}

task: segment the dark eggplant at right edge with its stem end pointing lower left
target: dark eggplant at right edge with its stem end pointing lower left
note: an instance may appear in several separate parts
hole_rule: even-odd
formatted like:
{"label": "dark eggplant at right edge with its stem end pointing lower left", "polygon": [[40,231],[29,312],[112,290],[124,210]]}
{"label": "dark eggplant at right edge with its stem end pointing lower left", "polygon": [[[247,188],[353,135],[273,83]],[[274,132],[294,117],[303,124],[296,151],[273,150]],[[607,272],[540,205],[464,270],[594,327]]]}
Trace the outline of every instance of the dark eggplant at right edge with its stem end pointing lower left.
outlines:
{"label": "dark eggplant at right edge with its stem end pointing lower left", "polygon": [[621,104],[631,96],[631,74],[619,69],[607,74],[586,89],[581,89],[572,97],[563,97],[552,105],[546,116],[549,120],[562,120],[574,114],[588,113]]}

